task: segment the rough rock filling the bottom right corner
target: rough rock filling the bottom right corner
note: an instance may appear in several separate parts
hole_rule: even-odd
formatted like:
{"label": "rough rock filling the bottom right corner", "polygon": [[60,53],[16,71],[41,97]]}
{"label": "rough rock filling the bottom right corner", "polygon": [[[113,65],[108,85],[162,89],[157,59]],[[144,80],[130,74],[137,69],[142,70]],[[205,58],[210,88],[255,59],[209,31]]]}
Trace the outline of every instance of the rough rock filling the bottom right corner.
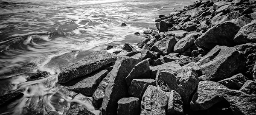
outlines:
{"label": "rough rock filling the bottom right corner", "polygon": [[222,88],[217,94],[230,103],[234,115],[256,115],[256,95]]}

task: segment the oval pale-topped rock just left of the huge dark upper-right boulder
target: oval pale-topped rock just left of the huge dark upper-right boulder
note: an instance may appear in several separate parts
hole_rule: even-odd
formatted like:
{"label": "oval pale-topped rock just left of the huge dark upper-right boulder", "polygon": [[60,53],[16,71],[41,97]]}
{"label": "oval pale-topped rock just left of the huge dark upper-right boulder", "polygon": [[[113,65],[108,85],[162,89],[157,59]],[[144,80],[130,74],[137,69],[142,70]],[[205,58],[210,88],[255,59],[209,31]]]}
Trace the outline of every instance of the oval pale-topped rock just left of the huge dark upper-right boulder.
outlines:
{"label": "oval pale-topped rock just left of the huge dark upper-right boulder", "polygon": [[183,53],[189,49],[194,44],[194,42],[195,38],[193,36],[184,37],[175,44],[173,51],[175,53]]}

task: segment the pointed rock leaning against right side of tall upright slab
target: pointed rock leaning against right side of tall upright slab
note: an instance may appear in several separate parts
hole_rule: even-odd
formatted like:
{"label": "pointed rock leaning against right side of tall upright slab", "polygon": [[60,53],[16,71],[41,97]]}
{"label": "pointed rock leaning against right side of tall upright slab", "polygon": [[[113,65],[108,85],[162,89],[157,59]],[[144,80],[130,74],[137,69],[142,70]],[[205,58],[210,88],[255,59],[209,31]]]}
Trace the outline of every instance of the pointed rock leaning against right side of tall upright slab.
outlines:
{"label": "pointed rock leaning against right side of tall upright slab", "polygon": [[150,78],[150,70],[149,70],[149,62],[148,60],[143,60],[139,62],[135,67],[131,70],[129,75],[125,78],[127,86],[131,85],[131,81],[133,79],[142,79],[142,78]]}

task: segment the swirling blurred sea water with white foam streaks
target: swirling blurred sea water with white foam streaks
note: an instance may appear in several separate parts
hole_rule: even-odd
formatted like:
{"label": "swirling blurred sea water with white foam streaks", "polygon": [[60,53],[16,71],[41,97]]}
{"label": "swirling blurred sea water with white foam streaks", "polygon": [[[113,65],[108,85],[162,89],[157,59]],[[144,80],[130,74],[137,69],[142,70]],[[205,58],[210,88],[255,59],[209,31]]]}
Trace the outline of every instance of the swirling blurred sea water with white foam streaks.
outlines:
{"label": "swirling blurred sea water with white foam streaks", "polygon": [[[74,101],[56,85],[63,67],[107,45],[120,50],[142,39],[133,35],[154,20],[195,0],[0,0],[0,95],[22,91],[25,95],[0,115],[44,115],[67,112]],[[174,9],[175,8],[175,9]],[[127,26],[120,27],[125,22]],[[136,46],[135,46],[136,47]],[[109,52],[113,51],[109,50]],[[29,75],[48,71],[51,76],[29,81]],[[76,100],[90,111],[99,108]],[[32,113],[31,112],[31,113]]]}

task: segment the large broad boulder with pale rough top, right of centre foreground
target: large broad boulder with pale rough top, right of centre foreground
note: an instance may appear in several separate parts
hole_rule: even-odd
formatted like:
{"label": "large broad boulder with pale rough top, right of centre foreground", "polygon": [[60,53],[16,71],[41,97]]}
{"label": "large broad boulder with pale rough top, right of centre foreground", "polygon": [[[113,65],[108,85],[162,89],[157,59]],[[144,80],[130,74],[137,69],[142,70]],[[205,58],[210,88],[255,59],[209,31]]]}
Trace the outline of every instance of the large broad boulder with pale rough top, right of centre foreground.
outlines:
{"label": "large broad boulder with pale rough top, right of centre foreground", "polygon": [[161,87],[163,91],[170,92],[175,90],[179,93],[183,103],[187,105],[189,104],[190,95],[198,85],[199,79],[193,68],[171,65],[166,70],[159,69],[157,71],[156,81],[157,86]]}

